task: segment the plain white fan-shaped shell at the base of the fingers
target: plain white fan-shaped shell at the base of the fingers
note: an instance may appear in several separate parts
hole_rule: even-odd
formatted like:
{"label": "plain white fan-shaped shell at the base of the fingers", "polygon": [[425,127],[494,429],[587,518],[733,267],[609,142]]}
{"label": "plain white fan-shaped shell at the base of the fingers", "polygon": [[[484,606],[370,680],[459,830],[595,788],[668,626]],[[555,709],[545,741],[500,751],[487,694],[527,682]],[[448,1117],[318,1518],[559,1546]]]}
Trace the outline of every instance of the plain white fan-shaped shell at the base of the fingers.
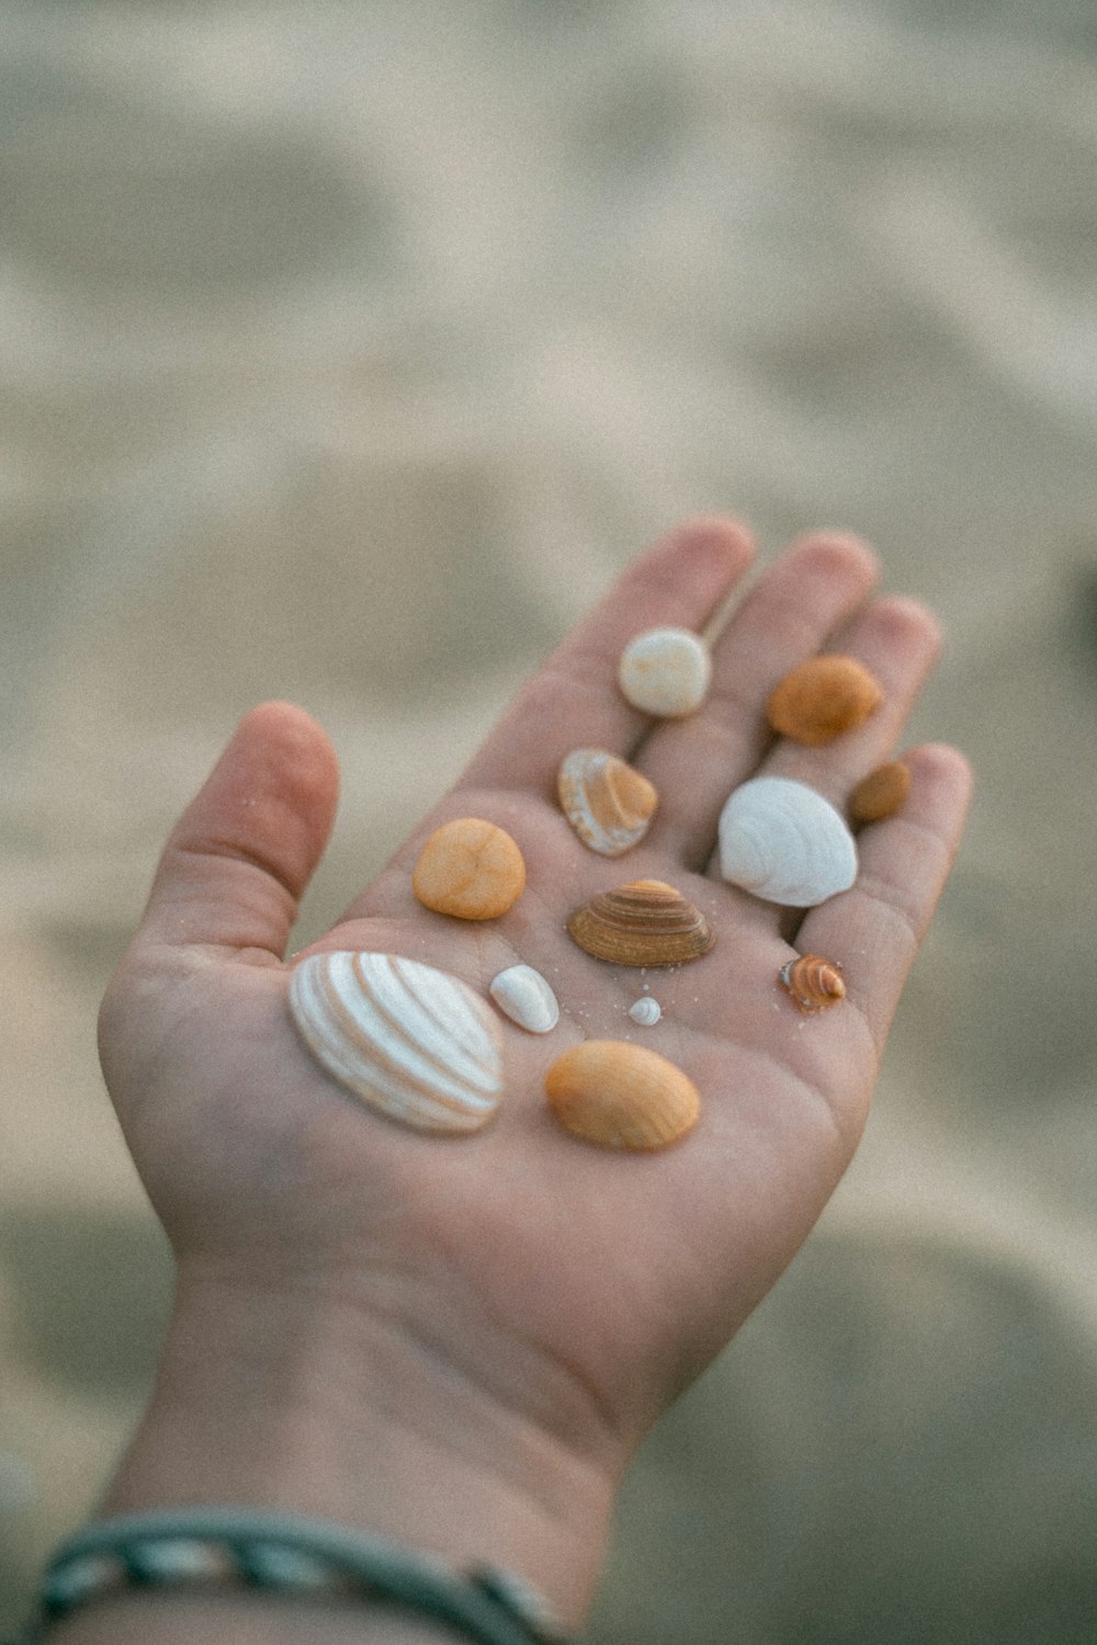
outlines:
{"label": "plain white fan-shaped shell at the base of the fingers", "polygon": [[857,878],[857,846],[834,806],[788,776],[755,776],[724,803],[720,873],[768,903],[814,908]]}

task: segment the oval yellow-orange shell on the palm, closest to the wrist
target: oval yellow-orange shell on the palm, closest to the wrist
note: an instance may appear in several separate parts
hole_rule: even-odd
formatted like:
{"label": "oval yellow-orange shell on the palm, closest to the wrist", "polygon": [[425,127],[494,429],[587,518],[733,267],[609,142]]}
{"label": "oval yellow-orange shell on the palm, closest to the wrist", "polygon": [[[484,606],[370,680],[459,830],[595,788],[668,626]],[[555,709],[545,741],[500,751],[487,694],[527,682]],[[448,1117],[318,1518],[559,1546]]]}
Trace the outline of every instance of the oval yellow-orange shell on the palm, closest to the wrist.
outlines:
{"label": "oval yellow-orange shell on the palm, closest to the wrist", "polygon": [[584,1040],[564,1051],[544,1092],[561,1125],[599,1148],[668,1148],[701,1115],[692,1079],[628,1040]]}

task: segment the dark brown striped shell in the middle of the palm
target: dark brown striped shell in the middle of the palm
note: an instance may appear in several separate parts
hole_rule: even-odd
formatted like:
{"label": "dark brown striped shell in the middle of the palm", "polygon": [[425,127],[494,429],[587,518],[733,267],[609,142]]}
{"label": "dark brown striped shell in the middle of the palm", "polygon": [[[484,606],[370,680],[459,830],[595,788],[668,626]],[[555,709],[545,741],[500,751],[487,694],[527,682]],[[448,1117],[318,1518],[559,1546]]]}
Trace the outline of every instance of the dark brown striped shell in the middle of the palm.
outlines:
{"label": "dark brown striped shell in the middle of the palm", "polygon": [[715,943],[701,910],[663,880],[599,892],[572,908],[567,933],[584,952],[615,966],[681,966]]}

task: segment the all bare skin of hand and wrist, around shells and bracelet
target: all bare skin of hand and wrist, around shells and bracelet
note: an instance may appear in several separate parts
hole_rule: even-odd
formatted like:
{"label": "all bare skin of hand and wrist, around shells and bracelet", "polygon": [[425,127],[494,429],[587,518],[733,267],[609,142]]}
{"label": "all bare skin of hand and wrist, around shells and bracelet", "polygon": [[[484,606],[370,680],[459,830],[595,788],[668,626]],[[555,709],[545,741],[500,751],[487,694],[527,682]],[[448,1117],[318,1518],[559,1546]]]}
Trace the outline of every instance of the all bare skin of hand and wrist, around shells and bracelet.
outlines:
{"label": "all bare skin of hand and wrist, around shells and bracelet", "polygon": [[[702,628],[750,558],[747,533],[722,518],[689,521],[641,556],[306,951],[405,954],[482,994],[520,961],[551,979],[551,1035],[500,1018],[505,1101],[474,1137],[423,1135],[365,1109],[298,1040],[285,954],[332,827],[336,755],[289,704],[242,721],[168,841],[100,1017],[107,1086],[176,1258],[156,1383],[104,1513],[317,1513],[457,1564],[511,1568],[582,1624],[636,1444],[776,1281],[852,1158],[969,795],[954,748],[906,750],[910,796],[860,834],[852,890],[804,915],[720,880],[727,793],[766,772],[842,806],[893,755],[939,648],[921,605],[872,595],[863,544],[814,533],[732,602],[704,707],[676,722],[638,714],[615,684],[625,642],[655,625]],[[883,706],[826,747],[773,739],[770,689],[821,648],[867,663]],[[661,795],[646,839],[615,864],[577,842],[554,799],[556,768],[579,745],[628,757]],[[498,822],[526,860],[523,898],[485,924],[411,893],[418,849],[457,816]],[[664,1012],[653,1030],[625,1015],[636,975],[564,931],[579,900],[641,877],[669,880],[717,933],[704,959],[648,977]],[[776,974],[808,951],[842,962],[847,999],[804,1018]],[[701,1091],[697,1128],[666,1152],[587,1147],[548,1110],[544,1071],[562,1050],[625,1035]],[[451,1635],[365,1606],[243,1594],[125,1596],[53,1637]]]}

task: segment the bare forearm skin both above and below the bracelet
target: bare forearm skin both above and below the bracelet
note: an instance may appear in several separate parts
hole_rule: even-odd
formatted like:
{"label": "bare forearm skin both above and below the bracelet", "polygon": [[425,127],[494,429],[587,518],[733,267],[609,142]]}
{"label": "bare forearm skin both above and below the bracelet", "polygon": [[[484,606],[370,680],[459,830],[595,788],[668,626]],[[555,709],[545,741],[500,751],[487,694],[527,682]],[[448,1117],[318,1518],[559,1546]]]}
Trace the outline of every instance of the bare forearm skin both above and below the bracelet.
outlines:
{"label": "bare forearm skin both above and below the bracelet", "polygon": [[[457,1569],[510,1569],[577,1630],[612,1485],[604,1467],[359,1309],[217,1286],[179,1298],[150,1406],[100,1513],[187,1504],[316,1515]],[[454,1633],[365,1601],[173,1591],[97,1601],[54,1637],[428,1645]]]}

